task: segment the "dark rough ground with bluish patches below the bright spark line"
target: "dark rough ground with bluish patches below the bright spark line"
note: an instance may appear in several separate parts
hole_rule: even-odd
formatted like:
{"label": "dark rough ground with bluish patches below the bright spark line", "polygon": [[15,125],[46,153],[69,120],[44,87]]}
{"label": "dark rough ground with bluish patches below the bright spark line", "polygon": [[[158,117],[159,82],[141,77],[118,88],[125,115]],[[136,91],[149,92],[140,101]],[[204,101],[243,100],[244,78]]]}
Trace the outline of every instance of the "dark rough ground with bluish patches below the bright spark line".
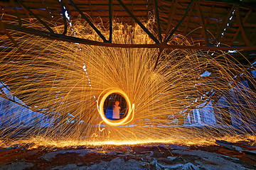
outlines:
{"label": "dark rough ground with bluish patches below the bright spark line", "polygon": [[256,146],[246,142],[178,146],[136,146],[28,149],[28,145],[0,149],[0,169],[256,169]]}

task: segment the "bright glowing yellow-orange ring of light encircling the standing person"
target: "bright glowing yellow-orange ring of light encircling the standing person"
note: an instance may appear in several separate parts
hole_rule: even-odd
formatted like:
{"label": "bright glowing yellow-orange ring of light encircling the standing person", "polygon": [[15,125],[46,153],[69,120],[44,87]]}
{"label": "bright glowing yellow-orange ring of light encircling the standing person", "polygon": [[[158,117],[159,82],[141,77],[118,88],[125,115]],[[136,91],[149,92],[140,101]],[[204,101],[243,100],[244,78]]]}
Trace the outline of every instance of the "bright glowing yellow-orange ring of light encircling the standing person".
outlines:
{"label": "bright glowing yellow-orange ring of light encircling the standing person", "polygon": [[[102,96],[103,94],[104,94],[104,96]],[[105,102],[107,96],[109,96],[110,94],[120,94],[124,97],[125,101],[127,101],[128,113],[124,118],[122,118],[120,120],[110,120],[110,119],[106,118],[106,116],[104,114],[104,111],[103,111],[104,102]],[[100,96],[102,96],[102,98],[100,99],[100,105],[98,105],[98,101],[97,101],[97,110],[100,113],[100,116],[102,117],[102,120],[105,123],[107,123],[108,125],[117,126],[117,125],[125,125],[125,124],[129,123],[130,121],[132,121],[132,119],[134,118],[134,103],[131,105],[129,98],[128,98],[127,94],[124,93],[124,91],[122,91],[120,89],[106,89],[105,91],[102,91]],[[99,98],[100,98],[100,96],[99,96]]]}

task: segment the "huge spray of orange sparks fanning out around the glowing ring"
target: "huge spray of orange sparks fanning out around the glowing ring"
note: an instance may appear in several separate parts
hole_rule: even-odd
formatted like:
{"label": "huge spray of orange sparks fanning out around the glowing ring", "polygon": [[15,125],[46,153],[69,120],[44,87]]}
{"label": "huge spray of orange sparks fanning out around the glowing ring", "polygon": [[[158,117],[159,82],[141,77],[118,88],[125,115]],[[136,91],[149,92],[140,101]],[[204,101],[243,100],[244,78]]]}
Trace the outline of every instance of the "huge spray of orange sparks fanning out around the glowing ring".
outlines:
{"label": "huge spray of orange sparks fanning out around the glowing ring", "polygon": [[[144,23],[152,33],[153,24]],[[33,27],[43,29],[40,24]],[[60,26],[53,29],[63,31]],[[158,49],[99,47],[10,34],[22,50],[13,47],[1,52],[1,83],[21,105],[36,113],[32,119],[28,113],[2,119],[3,143],[29,141],[64,147],[255,140],[255,92],[240,83],[251,77],[246,67],[234,64],[224,52],[210,55],[213,52],[166,49],[154,69]],[[69,26],[67,35],[100,41],[87,23],[79,21]],[[122,23],[114,23],[112,42],[154,43],[139,26]],[[175,35],[168,43],[196,42]],[[7,35],[1,37],[1,45],[13,46]],[[234,100],[230,91],[235,91],[239,100]],[[230,108],[221,116],[228,118],[233,111],[231,119],[239,128],[223,123],[213,111],[203,116],[198,113],[213,105]],[[119,117],[108,115],[111,106],[119,108]],[[183,126],[184,120],[189,122],[192,117],[198,122]]]}

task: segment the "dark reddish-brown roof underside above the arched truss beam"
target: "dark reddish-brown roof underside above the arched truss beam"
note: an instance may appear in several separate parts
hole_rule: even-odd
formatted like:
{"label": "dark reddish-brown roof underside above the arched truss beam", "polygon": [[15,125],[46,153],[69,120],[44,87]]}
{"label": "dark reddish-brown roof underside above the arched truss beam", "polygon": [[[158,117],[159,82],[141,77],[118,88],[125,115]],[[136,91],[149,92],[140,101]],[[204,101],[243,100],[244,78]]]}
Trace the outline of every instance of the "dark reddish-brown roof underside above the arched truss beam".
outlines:
{"label": "dark reddish-brown roof underside above the arched truss beam", "polygon": [[[213,45],[216,45],[216,42],[218,43],[220,38],[223,44],[234,45],[231,42],[233,42],[240,33],[242,34],[241,37],[245,39],[246,42],[244,43],[242,40],[239,40],[240,43],[235,43],[236,45],[255,45],[255,40],[252,38],[252,36],[249,36],[249,34],[253,33],[256,26],[256,23],[253,22],[252,18],[255,15],[255,9],[253,8],[253,6],[243,6],[243,3],[232,3],[231,0],[221,0],[221,2],[217,0],[194,0],[191,6],[191,0],[87,0],[84,3],[82,1],[79,2],[77,0],[73,0],[74,4],[81,8],[80,11],[78,10],[79,8],[75,8],[69,2],[69,0],[62,0],[61,2],[49,0],[47,1],[48,4],[46,4],[46,1],[43,0],[35,1],[33,3],[25,0],[17,0],[21,1],[23,4],[25,4],[25,6],[28,6],[27,9],[31,10],[31,12],[33,12],[35,16],[33,16],[33,14],[22,5],[11,5],[11,1],[0,2],[0,5],[3,8],[0,9],[0,12],[6,13],[2,15],[3,23],[11,23],[13,21],[16,21],[16,23],[18,23],[18,18],[15,12],[16,9],[20,13],[21,21],[24,18],[33,18],[35,20],[35,18],[38,17],[39,19],[47,23],[49,28],[51,28],[51,26],[54,26],[49,23],[56,23],[58,26],[64,23],[66,26],[67,24],[65,23],[65,21],[67,18],[65,18],[63,12],[62,14],[60,12],[63,11],[63,5],[60,5],[62,2],[65,6],[65,10],[68,10],[70,17],[72,18],[72,21],[70,21],[71,23],[73,23],[76,18],[78,18],[79,14],[81,16],[84,15],[87,18],[89,18],[88,16],[90,16],[90,18],[95,17],[95,19],[97,19],[96,16],[99,16],[102,19],[102,22],[104,24],[103,26],[105,26],[105,28],[109,28],[110,30],[110,38],[108,38],[108,40],[105,40],[102,37],[103,42],[108,43],[112,42],[112,26],[110,25],[112,24],[111,21],[112,19],[114,19],[114,17],[122,18],[122,20],[120,21],[122,21],[123,23],[138,23],[142,27],[142,29],[144,29],[144,31],[149,35],[149,37],[154,40],[154,42],[160,43],[161,37],[151,33],[151,31],[144,27],[142,22],[140,22],[141,20],[148,19],[149,13],[153,12],[156,16],[156,24],[154,26],[154,30],[158,30],[158,35],[161,35],[161,31],[164,30],[163,39],[165,42],[168,38],[171,38],[171,35],[174,35],[174,33],[186,36],[189,30],[191,31],[191,34],[189,35],[189,38],[192,38],[191,40],[200,40],[201,38],[205,39],[203,45],[209,43],[207,42],[209,40],[207,36],[210,36],[210,34],[213,35],[213,38],[215,36],[215,40],[213,40]],[[110,3],[112,3],[112,6],[110,6]],[[252,3],[248,2],[245,4]],[[17,6],[18,8],[11,8],[11,6]],[[50,6],[50,8],[48,8],[48,6]],[[240,18],[240,23],[239,21],[233,19],[232,23],[230,23],[230,27],[227,27],[229,18],[231,15],[233,15],[233,9],[236,8],[236,6],[241,10],[241,14],[239,14],[240,17],[242,16],[242,18]],[[112,13],[110,13],[110,7],[112,7]],[[42,10],[44,11],[42,12]],[[52,13],[50,13],[49,10]],[[226,12],[227,10],[228,12]],[[25,11],[25,13],[23,11]],[[53,14],[55,18],[58,18],[58,21],[56,19],[54,20],[51,17],[51,14]],[[60,16],[60,14],[62,16]],[[196,16],[193,16],[195,14]],[[235,17],[237,15],[238,14],[235,13],[233,17],[238,18]],[[63,17],[63,22],[59,20],[60,17]],[[46,21],[49,21],[49,23]],[[91,19],[89,21],[93,23]],[[95,21],[95,23],[97,22],[100,22],[100,20]],[[220,23],[222,26],[219,26]],[[200,33],[198,33],[198,31],[193,32],[193,30],[196,30],[200,27],[202,27]],[[223,32],[225,30],[228,31],[226,31],[225,35],[223,36]],[[98,34],[100,35],[102,33],[99,31]],[[52,33],[51,35],[49,34],[48,37],[51,38],[52,35],[55,36],[55,34]]]}

